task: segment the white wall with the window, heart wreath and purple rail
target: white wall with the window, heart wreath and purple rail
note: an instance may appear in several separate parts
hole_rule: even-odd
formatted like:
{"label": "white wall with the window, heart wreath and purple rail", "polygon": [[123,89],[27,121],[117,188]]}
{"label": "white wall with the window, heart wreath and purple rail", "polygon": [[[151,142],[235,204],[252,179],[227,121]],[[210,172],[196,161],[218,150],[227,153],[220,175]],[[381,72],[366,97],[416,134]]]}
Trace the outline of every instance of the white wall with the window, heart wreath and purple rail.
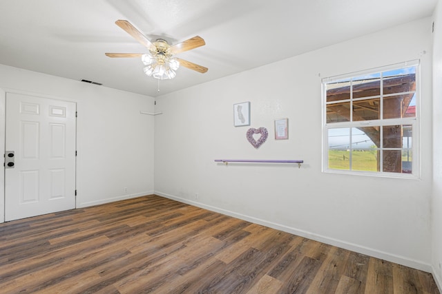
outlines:
{"label": "white wall with the window, heart wreath and purple rail", "polygon": [[[431,19],[422,19],[157,98],[155,193],[430,271],[431,38]],[[323,174],[321,78],[413,59],[421,179]],[[269,130],[259,149],[246,140],[249,127],[233,127],[233,104],[244,101],[251,127]],[[273,139],[276,118],[289,118],[289,140]],[[305,164],[213,162],[222,158]]]}

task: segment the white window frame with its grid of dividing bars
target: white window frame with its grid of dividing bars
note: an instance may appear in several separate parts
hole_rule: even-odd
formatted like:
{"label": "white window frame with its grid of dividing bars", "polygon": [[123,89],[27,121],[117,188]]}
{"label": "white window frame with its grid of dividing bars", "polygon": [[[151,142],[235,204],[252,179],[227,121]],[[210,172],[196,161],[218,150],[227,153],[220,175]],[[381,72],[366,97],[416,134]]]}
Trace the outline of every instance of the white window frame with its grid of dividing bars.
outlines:
{"label": "white window frame with its grid of dividing bars", "polygon": [[[349,122],[339,122],[339,123],[327,123],[327,105],[332,103],[327,103],[327,88],[326,84],[333,82],[333,81],[339,81],[343,80],[345,78],[352,78],[352,77],[358,77],[358,76],[364,76],[368,74],[378,74],[382,72],[387,72],[390,70],[399,70],[404,67],[416,67],[416,116],[415,117],[406,117],[406,118],[390,118],[390,119],[380,119],[380,120],[362,120],[362,121],[349,121]],[[381,177],[392,177],[392,178],[419,178],[420,177],[420,125],[419,125],[419,118],[420,118],[420,109],[421,109],[421,78],[420,78],[420,63],[419,60],[415,61],[407,61],[403,63],[396,63],[394,65],[387,65],[383,67],[376,67],[372,70],[364,70],[361,72],[353,72],[350,74],[343,74],[339,76],[330,76],[327,78],[322,79],[322,118],[323,118],[323,172],[325,173],[331,173],[331,174],[353,174],[353,175],[363,175],[363,176],[381,176]],[[382,76],[381,76],[382,77]],[[381,94],[379,96],[372,96],[372,97],[363,97],[363,98],[353,98],[352,94],[349,99],[347,100],[341,100],[339,103],[349,101],[350,102],[350,116],[352,117],[352,103],[353,101],[359,101],[359,100],[365,100],[367,98],[380,98],[379,103],[379,112],[381,114],[383,113],[383,78],[381,78]],[[390,95],[385,96],[393,96],[398,95],[401,93],[394,93]],[[350,138],[352,136],[351,130],[352,127],[367,127],[370,125],[379,126],[382,127],[386,125],[412,125],[412,173],[411,174],[405,174],[405,173],[393,173],[393,172],[386,172],[383,171],[383,160],[381,160],[380,165],[381,169],[380,171],[354,171],[351,169],[352,165],[350,162],[350,169],[329,169],[329,129],[336,129],[336,128],[349,128],[350,129]],[[382,131],[381,131],[382,132]],[[383,140],[382,133],[380,133],[381,136],[381,142]],[[382,144],[380,144],[380,158],[383,158],[383,150],[398,150],[399,148],[384,148],[382,147]],[[351,160],[351,159],[350,159]]]}

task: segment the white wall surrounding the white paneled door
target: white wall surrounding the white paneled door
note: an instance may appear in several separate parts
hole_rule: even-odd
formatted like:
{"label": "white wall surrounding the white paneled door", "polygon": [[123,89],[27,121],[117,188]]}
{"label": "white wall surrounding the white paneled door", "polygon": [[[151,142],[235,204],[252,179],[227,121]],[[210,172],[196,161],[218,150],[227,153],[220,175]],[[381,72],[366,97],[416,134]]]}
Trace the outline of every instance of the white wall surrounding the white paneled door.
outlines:
{"label": "white wall surrounding the white paneled door", "polygon": [[152,97],[6,65],[0,89],[77,103],[77,207],[153,193],[153,116],[140,114],[153,112]]}

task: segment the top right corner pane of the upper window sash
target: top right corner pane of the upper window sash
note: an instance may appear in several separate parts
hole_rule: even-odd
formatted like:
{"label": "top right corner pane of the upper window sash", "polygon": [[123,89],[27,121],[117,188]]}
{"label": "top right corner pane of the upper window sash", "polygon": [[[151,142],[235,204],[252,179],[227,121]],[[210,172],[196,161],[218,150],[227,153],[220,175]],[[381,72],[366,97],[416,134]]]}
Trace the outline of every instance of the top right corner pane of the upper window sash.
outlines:
{"label": "top right corner pane of the upper window sash", "polygon": [[416,67],[383,72],[383,94],[416,91]]}

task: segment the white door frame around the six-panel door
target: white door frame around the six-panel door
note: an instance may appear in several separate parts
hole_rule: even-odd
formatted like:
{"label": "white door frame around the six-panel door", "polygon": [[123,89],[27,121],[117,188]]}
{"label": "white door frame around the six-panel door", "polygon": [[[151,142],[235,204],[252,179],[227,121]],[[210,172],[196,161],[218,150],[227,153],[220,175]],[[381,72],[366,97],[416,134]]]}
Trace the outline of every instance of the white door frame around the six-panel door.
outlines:
{"label": "white door frame around the six-panel door", "polygon": [[[67,99],[62,96],[55,96],[55,95],[48,95],[48,94],[41,94],[37,92],[30,92],[30,91],[23,91],[23,90],[17,90],[17,89],[9,89],[6,87],[0,87],[0,156],[1,154],[5,154],[5,145],[6,145],[6,94],[7,93],[14,93],[14,94],[23,94],[23,95],[30,95],[30,96],[38,96],[40,98],[48,98],[48,99],[54,99],[59,101],[68,101],[73,102],[77,106],[78,110],[78,101],[75,99]],[[77,150],[77,118],[75,118],[75,150]],[[4,158],[3,158],[4,162]],[[5,222],[5,169],[0,168],[0,223]],[[78,189],[77,184],[77,156],[75,156],[75,189]],[[78,207],[78,198],[75,197],[75,208]]]}

